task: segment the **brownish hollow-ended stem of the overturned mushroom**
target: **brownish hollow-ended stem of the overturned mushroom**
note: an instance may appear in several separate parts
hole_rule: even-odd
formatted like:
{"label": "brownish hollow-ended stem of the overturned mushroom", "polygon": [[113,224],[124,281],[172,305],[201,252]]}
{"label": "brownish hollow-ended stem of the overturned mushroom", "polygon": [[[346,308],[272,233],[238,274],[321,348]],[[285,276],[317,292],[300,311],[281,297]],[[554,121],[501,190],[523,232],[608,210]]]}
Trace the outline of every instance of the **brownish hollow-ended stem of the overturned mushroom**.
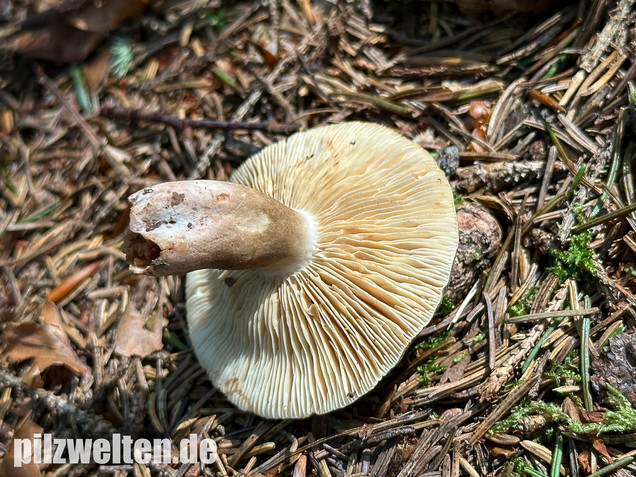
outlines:
{"label": "brownish hollow-ended stem of the overturned mushroom", "polygon": [[288,273],[311,259],[313,218],[249,187],[220,181],[165,182],[128,198],[126,260],[135,273],[204,268]]}

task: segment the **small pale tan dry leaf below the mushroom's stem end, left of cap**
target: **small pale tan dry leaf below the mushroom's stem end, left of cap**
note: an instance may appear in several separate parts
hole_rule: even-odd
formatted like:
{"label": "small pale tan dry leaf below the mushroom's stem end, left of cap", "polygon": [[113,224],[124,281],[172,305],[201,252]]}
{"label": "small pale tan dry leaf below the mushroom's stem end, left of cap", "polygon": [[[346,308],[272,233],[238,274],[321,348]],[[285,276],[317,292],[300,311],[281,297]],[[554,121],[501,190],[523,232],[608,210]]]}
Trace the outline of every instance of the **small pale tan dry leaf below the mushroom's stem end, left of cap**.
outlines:
{"label": "small pale tan dry leaf below the mushroom's stem end, left of cap", "polygon": [[[115,351],[123,356],[145,357],[160,350],[163,348],[161,337],[165,321],[144,317],[129,304],[117,326]],[[147,328],[147,324],[152,328]]]}

